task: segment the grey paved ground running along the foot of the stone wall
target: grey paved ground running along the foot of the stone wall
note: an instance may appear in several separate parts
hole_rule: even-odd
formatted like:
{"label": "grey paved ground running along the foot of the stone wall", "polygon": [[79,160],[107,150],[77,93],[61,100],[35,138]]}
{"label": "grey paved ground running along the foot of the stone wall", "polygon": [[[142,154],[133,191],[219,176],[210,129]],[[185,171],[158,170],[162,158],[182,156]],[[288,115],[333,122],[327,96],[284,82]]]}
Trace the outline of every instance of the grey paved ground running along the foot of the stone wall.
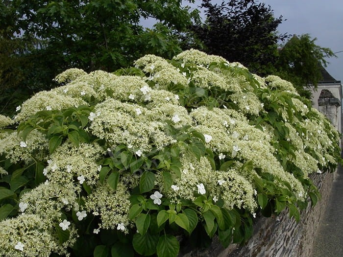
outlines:
{"label": "grey paved ground running along the foot of the stone wall", "polygon": [[341,166],[315,236],[312,257],[343,257],[343,169]]}

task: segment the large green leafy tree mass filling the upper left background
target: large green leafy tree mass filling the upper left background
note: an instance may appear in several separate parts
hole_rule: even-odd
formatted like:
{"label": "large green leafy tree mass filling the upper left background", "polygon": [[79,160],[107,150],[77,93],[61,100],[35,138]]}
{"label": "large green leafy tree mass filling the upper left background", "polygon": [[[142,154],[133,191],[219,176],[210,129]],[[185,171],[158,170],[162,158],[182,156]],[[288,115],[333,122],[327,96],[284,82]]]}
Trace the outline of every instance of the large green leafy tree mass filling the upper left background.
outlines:
{"label": "large green leafy tree mass filling the upper left background", "polygon": [[[141,25],[147,18],[156,19],[154,28]],[[4,0],[1,91],[29,96],[68,68],[114,71],[147,53],[171,58],[181,51],[178,35],[198,19],[181,0]]]}

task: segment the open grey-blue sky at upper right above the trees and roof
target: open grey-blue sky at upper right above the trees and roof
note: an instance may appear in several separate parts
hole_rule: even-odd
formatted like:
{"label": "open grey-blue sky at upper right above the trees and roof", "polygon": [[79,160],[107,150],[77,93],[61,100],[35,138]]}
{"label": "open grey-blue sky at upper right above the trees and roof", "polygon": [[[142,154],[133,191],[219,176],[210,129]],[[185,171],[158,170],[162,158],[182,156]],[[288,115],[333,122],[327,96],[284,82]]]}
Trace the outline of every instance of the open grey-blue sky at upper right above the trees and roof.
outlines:
{"label": "open grey-blue sky at upper right above the trees and roof", "polygon": [[[343,0],[260,0],[270,5],[275,17],[283,16],[280,33],[310,34],[320,47],[343,51]],[[285,21],[287,19],[287,21]],[[343,81],[343,52],[326,59],[326,70]]]}

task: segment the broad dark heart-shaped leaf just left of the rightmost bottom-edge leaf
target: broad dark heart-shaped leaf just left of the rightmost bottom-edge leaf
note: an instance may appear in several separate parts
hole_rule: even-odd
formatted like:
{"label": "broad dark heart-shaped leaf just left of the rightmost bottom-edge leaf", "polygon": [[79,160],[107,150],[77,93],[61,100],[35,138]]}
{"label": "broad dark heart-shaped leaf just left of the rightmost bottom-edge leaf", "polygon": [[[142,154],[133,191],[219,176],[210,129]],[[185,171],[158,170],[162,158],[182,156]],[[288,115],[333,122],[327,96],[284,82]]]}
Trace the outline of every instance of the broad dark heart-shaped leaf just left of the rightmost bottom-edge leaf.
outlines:
{"label": "broad dark heart-shaped leaf just left of the rightmost bottom-edge leaf", "polygon": [[135,251],[140,255],[149,256],[156,253],[158,239],[158,234],[149,234],[147,232],[145,235],[141,235],[136,233],[133,235],[132,245]]}

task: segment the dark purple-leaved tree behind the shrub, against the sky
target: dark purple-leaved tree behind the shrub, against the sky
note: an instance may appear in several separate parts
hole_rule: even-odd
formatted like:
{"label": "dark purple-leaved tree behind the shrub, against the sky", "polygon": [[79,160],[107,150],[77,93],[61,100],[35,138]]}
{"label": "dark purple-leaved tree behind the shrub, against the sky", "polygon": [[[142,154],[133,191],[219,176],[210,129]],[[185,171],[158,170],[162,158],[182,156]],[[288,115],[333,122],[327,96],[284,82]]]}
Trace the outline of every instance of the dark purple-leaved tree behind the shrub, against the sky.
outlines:
{"label": "dark purple-leaved tree behind the shrub, against the sky", "polygon": [[[270,6],[255,0],[229,0],[220,5],[202,0],[206,21],[191,30],[205,52],[240,62],[252,72],[266,75],[277,60],[277,34],[282,16],[275,18]],[[191,46],[196,47],[196,46]]]}

